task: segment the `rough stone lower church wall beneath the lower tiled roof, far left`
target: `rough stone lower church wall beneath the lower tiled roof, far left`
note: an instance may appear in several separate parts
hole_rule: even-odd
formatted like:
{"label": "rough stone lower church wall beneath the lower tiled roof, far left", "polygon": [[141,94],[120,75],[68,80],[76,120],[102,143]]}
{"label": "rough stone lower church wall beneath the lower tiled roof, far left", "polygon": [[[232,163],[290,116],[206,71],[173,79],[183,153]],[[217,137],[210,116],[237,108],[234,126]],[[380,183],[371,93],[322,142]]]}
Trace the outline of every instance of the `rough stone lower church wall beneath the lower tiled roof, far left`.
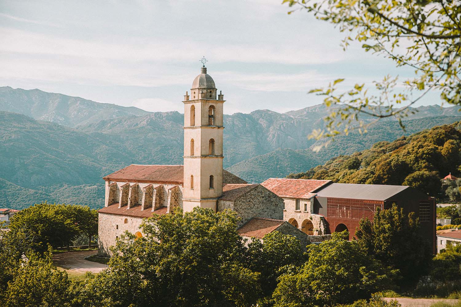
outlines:
{"label": "rough stone lower church wall beneath the lower tiled roof, far left", "polygon": [[[125,219],[127,223],[124,223]],[[117,237],[125,231],[132,234],[141,232],[139,225],[142,218],[100,213],[98,223],[98,255],[107,257],[111,255],[109,248],[115,245]]]}

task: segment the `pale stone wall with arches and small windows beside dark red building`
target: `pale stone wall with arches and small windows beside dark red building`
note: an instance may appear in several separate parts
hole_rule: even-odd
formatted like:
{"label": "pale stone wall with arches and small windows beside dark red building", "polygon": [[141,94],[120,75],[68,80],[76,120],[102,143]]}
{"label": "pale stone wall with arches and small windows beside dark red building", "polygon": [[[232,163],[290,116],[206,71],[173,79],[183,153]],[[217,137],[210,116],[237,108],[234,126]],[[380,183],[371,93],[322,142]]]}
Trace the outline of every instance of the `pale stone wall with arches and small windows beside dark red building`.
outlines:
{"label": "pale stone wall with arches and small windows beside dark red building", "polygon": [[[284,197],[285,209],[283,219],[296,226],[302,232],[313,235],[326,234],[327,225],[322,215],[313,213],[313,198],[300,199],[300,208],[296,210],[296,199]],[[307,210],[305,211],[305,204]],[[312,223],[312,227],[309,227]],[[311,230],[312,228],[312,230]]]}

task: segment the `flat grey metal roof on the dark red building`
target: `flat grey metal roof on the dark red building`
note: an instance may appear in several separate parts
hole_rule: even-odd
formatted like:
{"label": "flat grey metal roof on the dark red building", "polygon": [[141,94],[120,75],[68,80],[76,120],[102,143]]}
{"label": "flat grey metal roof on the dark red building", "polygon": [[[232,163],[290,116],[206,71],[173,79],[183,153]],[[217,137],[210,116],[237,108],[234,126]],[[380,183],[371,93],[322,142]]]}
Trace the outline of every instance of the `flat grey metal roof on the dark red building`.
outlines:
{"label": "flat grey metal roof on the dark red building", "polygon": [[332,183],[317,192],[317,197],[336,197],[384,201],[408,189],[408,185],[360,185]]}

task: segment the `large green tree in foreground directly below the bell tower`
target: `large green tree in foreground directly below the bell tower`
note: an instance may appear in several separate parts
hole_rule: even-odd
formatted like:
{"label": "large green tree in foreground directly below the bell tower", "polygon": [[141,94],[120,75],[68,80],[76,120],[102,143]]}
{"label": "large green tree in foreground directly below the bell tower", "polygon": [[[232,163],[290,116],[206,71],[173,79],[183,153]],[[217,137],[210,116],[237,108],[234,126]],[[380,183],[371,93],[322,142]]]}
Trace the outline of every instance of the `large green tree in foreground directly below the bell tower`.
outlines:
{"label": "large green tree in foreground directly below the bell tower", "polygon": [[118,239],[109,269],[82,291],[83,306],[251,306],[260,273],[244,264],[236,220],[199,207],[145,220],[142,238]]}

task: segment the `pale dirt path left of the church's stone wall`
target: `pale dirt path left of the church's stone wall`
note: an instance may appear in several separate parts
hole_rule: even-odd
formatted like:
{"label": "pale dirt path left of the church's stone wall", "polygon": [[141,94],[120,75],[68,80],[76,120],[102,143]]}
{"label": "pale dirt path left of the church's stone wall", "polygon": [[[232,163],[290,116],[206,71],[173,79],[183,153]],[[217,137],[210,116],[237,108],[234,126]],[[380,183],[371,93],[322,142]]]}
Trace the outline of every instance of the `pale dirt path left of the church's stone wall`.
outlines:
{"label": "pale dirt path left of the church's stone wall", "polygon": [[99,273],[107,265],[85,260],[85,257],[95,255],[96,253],[96,250],[60,253],[53,255],[53,262],[56,266],[60,266],[71,272]]}

